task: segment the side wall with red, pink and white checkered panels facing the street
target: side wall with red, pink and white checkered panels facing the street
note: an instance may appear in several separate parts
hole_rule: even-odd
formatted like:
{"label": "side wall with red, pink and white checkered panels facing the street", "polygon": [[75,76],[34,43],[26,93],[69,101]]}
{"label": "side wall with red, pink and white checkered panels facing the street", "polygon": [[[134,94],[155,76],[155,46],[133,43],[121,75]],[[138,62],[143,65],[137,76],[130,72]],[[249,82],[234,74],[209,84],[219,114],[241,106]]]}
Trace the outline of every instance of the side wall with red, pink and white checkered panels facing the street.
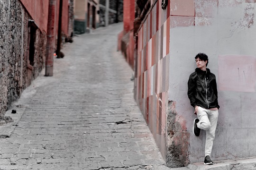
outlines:
{"label": "side wall with red, pink and white checkered panels facing the street", "polygon": [[163,157],[167,153],[170,10],[161,0],[151,2],[149,15],[138,31],[135,99]]}

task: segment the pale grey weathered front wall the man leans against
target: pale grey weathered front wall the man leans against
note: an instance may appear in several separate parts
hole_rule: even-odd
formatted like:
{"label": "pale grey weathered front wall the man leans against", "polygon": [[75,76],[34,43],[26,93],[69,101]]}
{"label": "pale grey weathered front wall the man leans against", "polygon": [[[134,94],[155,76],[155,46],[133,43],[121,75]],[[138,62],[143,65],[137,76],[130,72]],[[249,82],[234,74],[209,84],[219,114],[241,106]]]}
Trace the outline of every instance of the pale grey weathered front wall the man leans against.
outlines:
{"label": "pale grey weathered front wall the man leans against", "polygon": [[193,135],[196,115],[187,97],[188,77],[199,52],[209,56],[208,68],[216,75],[219,90],[212,160],[256,156],[254,0],[174,0],[170,11],[168,99],[176,103],[174,122],[184,125],[179,128],[182,136],[190,136],[188,160],[204,159],[205,131]]}

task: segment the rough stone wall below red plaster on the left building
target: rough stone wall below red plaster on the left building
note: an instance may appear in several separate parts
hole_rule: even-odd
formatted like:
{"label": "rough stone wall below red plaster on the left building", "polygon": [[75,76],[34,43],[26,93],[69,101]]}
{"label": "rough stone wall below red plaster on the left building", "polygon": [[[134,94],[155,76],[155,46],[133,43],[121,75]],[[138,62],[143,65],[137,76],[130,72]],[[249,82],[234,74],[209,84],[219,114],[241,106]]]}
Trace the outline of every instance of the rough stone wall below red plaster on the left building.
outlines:
{"label": "rough stone wall below red plaster on the left building", "polygon": [[19,0],[0,1],[0,115],[44,67],[46,33],[36,31],[34,65],[28,68],[29,28],[32,19]]}

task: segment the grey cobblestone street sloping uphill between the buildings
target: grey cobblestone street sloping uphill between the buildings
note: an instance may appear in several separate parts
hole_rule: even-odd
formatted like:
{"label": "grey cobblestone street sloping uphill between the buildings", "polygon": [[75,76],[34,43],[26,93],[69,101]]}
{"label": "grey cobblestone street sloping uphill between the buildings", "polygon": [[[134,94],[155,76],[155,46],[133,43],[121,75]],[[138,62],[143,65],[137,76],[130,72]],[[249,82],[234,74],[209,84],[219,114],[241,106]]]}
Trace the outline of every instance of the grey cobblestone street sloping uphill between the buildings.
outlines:
{"label": "grey cobblestone street sloping uphill between the buildings", "polygon": [[[168,170],[133,98],[133,71],[117,52],[121,24],[65,44],[0,126],[1,170]],[[11,110],[17,110],[12,114]]]}

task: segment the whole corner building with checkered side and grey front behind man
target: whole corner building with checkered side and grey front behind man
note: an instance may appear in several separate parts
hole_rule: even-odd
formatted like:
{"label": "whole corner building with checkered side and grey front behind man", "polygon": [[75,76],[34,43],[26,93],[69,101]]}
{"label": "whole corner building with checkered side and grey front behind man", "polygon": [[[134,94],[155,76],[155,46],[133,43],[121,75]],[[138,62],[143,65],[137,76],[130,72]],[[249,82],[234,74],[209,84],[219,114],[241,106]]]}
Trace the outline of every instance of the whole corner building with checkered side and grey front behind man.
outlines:
{"label": "whole corner building with checkered side and grey front behind man", "polygon": [[205,132],[193,135],[196,115],[187,97],[199,52],[209,56],[207,68],[219,91],[212,160],[256,156],[254,5],[254,0],[136,1],[135,99],[167,166],[204,159]]}

